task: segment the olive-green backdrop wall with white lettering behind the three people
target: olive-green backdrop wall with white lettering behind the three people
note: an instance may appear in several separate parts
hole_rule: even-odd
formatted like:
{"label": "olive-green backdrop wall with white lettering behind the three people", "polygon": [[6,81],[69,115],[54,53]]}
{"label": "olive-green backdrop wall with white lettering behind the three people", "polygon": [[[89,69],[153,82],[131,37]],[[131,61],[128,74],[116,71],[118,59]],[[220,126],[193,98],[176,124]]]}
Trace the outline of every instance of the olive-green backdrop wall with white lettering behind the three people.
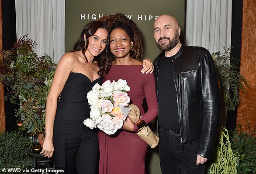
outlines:
{"label": "olive-green backdrop wall with white lettering behind the three people", "polygon": [[[137,23],[143,35],[143,58],[153,60],[160,52],[153,37],[153,24],[162,14],[176,17],[184,37],[186,0],[66,0],[65,52],[73,49],[86,23],[105,14],[123,13]],[[156,121],[150,127],[156,131]],[[157,147],[148,148],[146,174],[161,174]]]}

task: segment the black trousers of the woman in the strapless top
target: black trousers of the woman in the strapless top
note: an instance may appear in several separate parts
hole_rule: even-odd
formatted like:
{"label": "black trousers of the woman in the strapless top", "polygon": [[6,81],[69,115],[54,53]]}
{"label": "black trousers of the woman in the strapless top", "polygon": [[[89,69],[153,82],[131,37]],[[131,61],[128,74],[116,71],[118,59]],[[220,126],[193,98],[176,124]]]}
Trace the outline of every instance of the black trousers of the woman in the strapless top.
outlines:
{"label": "black trousers of the woman in the strapless top", "polygon": [[54,161],[56,169],[65,174],[95,174],[99,163],[97,131],[82,121],[55,118],[53,131]]}

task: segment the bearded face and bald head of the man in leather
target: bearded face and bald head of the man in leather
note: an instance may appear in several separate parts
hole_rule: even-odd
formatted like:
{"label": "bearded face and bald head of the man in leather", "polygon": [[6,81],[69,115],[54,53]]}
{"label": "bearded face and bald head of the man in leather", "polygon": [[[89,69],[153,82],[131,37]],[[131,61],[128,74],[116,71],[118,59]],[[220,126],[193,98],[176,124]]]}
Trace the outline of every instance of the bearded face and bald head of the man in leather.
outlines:
{"label": "bearded face and bald head of the man in leather", "polygon": [[180,27],[174,17],[162,15],[154,23],[154,38],[162,51],[172,50],[180,42]]}

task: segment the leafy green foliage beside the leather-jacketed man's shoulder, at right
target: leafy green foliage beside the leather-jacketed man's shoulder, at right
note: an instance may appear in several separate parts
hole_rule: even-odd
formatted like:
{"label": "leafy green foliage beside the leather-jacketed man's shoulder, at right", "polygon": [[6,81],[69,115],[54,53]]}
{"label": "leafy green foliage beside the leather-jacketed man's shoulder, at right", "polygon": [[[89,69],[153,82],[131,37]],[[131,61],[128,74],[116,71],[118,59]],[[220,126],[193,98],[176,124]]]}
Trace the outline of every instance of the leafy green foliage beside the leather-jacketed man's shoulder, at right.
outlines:
{"label": "leafy green foliage beside the leather-jacketed man's shoulder, at right", "polygon": [[237,70],[240,61],[231,56],[232,47],[224,47],[223,50],[224,52],[218,51],[211,55],[218,71],[223,101],[228,110],[235,110],[240,100],[239,90],[245,91],[243,84],[249,84]]}

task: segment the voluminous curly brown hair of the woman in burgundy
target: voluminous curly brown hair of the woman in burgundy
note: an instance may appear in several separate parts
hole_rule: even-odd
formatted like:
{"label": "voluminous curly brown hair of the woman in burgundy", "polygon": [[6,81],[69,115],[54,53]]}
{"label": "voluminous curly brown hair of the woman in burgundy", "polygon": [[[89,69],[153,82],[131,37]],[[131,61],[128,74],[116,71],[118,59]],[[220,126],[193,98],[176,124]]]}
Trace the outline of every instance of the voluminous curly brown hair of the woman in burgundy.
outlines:
{"label": "voluminous curly brown hair of the woman in burgundy", "polygon": [[[102,21],[104,23],[107,23],[108,28],[110,30],[110,33],[115,28],[121,28],[125,30],[127,35],[130,37],[130,40],[134,43],[133,47],[134,50],[130,50],[130,55],[132,58],[136,60],[142,60],[142,35],[140,30],[138,29],[138,26],[133,20],[128,19],[124,14],[122,13],[116,13],[112,15],[104,15],[98,19],[99,21]],[[110,35],[109,33],[109,35]],[[108,39],[109,42],[109,39]],[[109,46],[107,47],[107,53],[108,56],[111,58],[112,61],[115,60],[115,57],[113,54],[111,54]]]}

